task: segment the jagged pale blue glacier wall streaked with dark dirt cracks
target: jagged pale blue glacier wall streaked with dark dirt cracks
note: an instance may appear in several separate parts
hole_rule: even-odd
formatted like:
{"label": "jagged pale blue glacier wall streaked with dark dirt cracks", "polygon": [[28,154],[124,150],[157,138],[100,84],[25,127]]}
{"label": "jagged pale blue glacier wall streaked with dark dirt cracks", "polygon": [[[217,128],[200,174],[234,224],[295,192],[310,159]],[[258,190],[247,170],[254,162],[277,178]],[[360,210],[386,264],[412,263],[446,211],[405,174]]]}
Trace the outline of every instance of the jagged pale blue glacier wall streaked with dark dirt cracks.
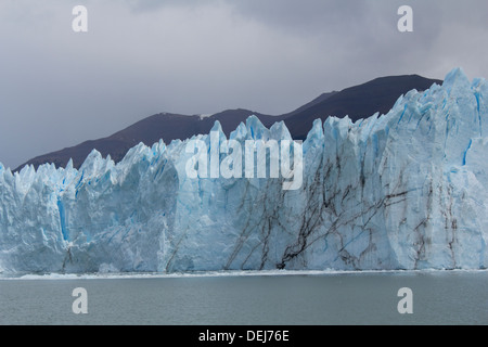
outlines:
{"label": "jagged pale blue glacier wall streaked with dark dirt cracks", "polygon": [[[298,190],[191,179],[190,139],[118,164],[92,151],[79,169],[0,164],[0,272],[485,269],[487,100],[485,79],[454,68],[385,115],[318,119]],[[251,116],[230,139],[291,136]]]}

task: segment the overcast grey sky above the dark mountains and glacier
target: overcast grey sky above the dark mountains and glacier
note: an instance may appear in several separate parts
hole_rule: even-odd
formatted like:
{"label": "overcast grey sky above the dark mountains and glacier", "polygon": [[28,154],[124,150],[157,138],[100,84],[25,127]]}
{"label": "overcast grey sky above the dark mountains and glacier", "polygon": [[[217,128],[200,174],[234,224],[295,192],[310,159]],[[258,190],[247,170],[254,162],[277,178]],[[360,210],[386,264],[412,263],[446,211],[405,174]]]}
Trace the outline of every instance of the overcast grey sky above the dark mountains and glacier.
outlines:
{"label": "overcast grey sky above the dark mountains and glacier", "polygon": [[0,162],[160,112],[278,115],[381,76],[488,77],[487,15],[486,0],[0,0]]}

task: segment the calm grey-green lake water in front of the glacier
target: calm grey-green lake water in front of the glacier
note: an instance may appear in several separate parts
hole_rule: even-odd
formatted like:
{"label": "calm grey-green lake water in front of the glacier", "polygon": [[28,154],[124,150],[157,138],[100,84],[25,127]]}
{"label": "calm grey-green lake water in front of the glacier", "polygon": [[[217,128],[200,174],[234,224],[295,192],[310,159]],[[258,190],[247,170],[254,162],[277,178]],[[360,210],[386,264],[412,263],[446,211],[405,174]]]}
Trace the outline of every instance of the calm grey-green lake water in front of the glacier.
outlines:
{"label": "calm grey-green lake water in front of the glacier", "polygon": [[488,271],[0,280],[0,324],[488,324],[487,288]]}

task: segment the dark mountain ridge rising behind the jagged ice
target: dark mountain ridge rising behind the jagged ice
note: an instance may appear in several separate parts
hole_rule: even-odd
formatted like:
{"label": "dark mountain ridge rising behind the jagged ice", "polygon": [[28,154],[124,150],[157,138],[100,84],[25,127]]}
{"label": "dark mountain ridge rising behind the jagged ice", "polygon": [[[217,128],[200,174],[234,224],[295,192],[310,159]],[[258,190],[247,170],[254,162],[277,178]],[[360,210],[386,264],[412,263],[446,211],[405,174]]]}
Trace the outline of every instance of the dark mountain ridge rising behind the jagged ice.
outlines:
{"label": "dark mountain ridge rising behind the jagged ice", "polygon": [[152,145],[163,139],[165,143],[170,143],[172,140],[184,140],[194,134],[208,133],[216,120],[220,121],[223,132],[229,136],[251,115],[256,115],[266,127],[284,120],[294,139],[305,140],[317,118],[325,120],[329,116],[342,118],[348,115],[352,121],[356,121],[376,112],[386,114],[400,95],[412,89],[426,90],[433,83],[440,85],[442,81],[419,75],[381,77],[338,92],[323,93],[297,110],[279,116],[243,108],[227,110],[208,117],[160,113],[139,120],[110,137],[85,141],[75,146],[37,156],[18,166],[15,171],[26,165],[34,165],[37,169],[39,165],[46,163],[64,167],[70,158],[74,167],[79,168],[93,149],[97,149],[104,157],[111,155],[118,163],[129,149],[140,142]]}

